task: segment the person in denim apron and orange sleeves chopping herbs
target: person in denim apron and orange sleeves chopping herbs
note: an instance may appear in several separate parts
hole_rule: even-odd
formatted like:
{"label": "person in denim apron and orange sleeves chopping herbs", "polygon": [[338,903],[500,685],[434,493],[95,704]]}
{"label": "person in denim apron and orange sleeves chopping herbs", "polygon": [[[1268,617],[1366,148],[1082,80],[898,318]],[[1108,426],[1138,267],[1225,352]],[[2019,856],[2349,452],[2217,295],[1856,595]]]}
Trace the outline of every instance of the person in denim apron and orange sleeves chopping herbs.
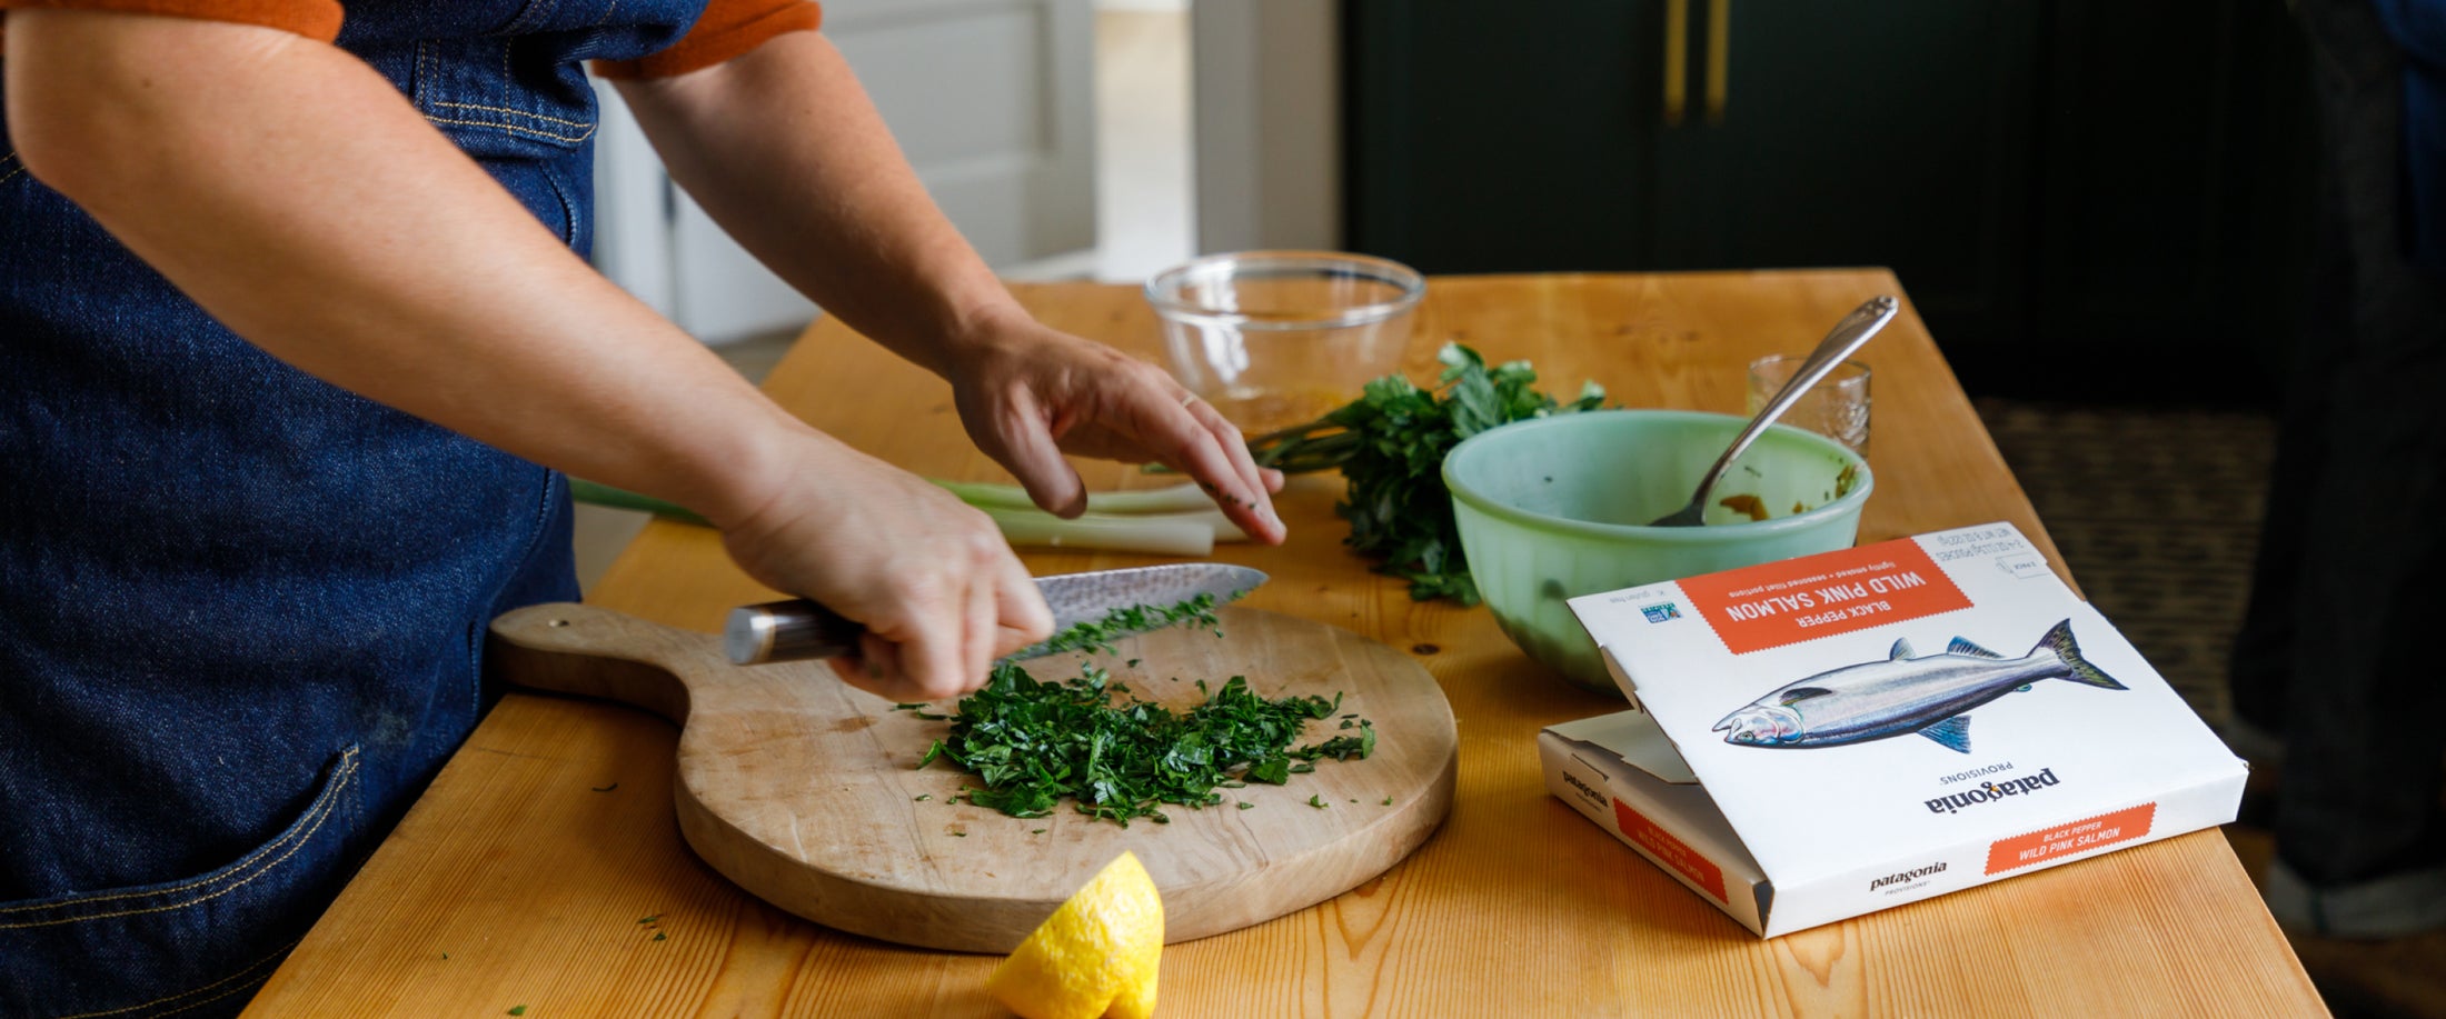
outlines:
{"label": "person in denim apron and orange sleeves chopping herbs", "polygon": [[983,513],[582,261],[580,61],[1040,506],[1155,459],[1282,540],[1213,408],[1018,308],[812,2],[0,10],[0,1014],[242,1007],[472,731],[487,621],[577,594],[558,472],[866,623],[841,672],[895,701],[1049,630]]}

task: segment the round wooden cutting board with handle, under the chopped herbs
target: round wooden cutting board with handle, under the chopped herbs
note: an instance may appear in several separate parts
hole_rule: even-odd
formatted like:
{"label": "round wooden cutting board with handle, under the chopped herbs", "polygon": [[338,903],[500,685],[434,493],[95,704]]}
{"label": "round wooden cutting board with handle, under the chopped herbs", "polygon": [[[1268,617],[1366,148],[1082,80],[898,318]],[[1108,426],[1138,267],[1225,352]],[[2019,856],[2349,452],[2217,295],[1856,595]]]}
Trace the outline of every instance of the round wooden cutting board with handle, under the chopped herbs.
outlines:
{"label": "round wooden cutting board with handle, under the chopped herbs", "polygon": [[[1221,640],[1169,628],[1118,643],[1098,665],[1177,711],[1203,699],[1196,679],[1235,674],[1262,696],[1343,694],[1343,714],[1375,723],[1375,755],[1321,760],[1282,787],[1221,789],[1221,806],[1167,806],[1172,824],[1123,828],[1069,802],[1013,819],[954,799],[974,780],[951,765],[917,770],[949,723],[893,711],[822,662],[736,667],[714,635],[545,604],[492,623],[492,667],[523,687],[609,696],[680,723],[680,833],[739,887],[817,924],[1008,953],[1132,850],[1164,894],[1164,941],[1191,941],[1331,899],[1399,863],[1450,809],[1458,753],[1443,689],[1406,655],[1294,616],[1218,616]],[[1076,674],[1074,657],[1027,670]],[[1296,743],[1331,738],[1333,726],[1311,721]],[[1240,799],[1252,806],[1238,809]]]}

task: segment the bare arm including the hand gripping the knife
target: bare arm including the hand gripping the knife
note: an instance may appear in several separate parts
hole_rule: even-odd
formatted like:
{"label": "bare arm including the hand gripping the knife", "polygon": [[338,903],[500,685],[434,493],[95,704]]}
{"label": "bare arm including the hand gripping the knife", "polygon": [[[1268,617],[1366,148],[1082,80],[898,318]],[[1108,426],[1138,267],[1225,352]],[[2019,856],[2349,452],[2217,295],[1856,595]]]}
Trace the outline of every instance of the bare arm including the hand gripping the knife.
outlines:
{"label": "bare arm including the hand gripping the knife", "polygon": [[521,457],[690,506],[876,633],[885,696],[1049,628],[991,520],[797,423],[570,254],[355,56],[286,32],[15,10],[27,171],[237,335]]}

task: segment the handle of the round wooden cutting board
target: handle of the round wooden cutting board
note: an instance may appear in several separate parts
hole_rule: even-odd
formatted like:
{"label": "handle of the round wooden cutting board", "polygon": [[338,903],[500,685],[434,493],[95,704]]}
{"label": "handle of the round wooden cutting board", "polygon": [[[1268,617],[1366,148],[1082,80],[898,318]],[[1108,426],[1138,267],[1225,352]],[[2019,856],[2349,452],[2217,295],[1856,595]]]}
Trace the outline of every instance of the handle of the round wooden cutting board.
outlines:
{"label": "handle of the round wooden cutting board", "polygon": [[492,621],[484,667],[519,687],[604,696],[687,723],[690,677],[731,670],[722,638],[550,601]]}

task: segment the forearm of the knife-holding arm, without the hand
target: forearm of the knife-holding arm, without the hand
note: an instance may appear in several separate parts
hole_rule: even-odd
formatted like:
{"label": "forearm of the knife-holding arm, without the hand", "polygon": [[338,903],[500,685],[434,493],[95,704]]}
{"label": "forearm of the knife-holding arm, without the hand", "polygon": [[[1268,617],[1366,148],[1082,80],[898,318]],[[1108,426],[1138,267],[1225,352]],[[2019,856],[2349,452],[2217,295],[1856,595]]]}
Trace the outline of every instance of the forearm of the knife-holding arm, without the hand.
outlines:
{"label": "forearm of the knife-holding arm, without the hand", "polygon": [[20,10],[27,169],[274,357],[714,520],[802,425],[570,254],[372,68],[276,29]]}

